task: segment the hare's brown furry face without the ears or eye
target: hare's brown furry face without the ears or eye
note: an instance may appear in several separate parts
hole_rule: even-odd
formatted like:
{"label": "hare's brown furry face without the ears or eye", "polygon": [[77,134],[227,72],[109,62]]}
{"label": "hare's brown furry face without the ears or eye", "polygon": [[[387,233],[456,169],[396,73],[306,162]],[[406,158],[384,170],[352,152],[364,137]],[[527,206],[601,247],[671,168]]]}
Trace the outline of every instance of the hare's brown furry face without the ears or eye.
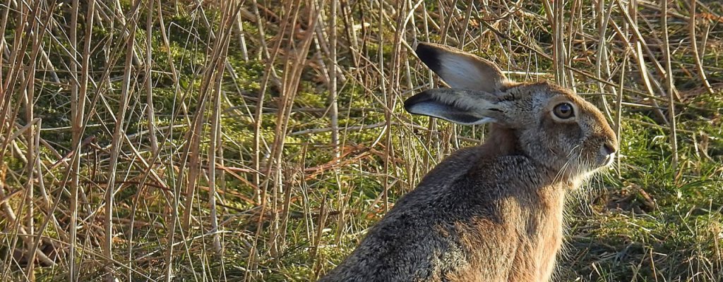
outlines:
{"label": "hare's brown furry face without the ears or eye", "polygon": [[[600,111],[577,94],[555,84],[539,82],[510,87],[503,99],[515,97],[505,125],[515,128],[521,151],[565,180],[583,180],[602,167],[607,159],[599,148],[617,147],[615,133]],[[578,113],[569,122],[555,120],[552,109],[570,102]],[[579,179],[578,179],[579,178]]]}

